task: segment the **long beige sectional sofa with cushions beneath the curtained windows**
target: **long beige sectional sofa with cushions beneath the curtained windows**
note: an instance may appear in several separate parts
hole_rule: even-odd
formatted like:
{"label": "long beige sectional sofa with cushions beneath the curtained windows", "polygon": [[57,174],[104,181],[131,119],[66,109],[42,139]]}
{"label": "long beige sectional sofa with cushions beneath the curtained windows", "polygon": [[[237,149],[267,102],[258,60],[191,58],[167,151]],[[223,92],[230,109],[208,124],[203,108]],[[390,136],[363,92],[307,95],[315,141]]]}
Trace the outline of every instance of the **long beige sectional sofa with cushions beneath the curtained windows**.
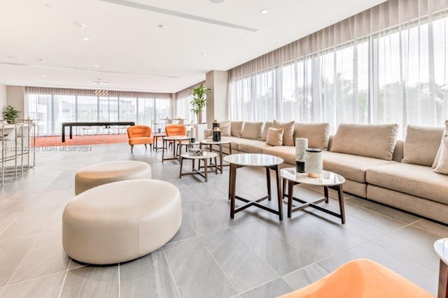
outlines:
{"label": "long beige sectional sofa with cushions beneath the curtained windows", "polygon": [[[232,141],[232,153],[265,153],[295,164],[294,146],[266,143],[272,122],[225,125],[231,129],[222,129],[222,138]],[[330,136],[328,123],[295,123],[292,137],[323,149],[323,169],[346,178],[345,192],[448,224],[448,176],[431,167],[443,128],[409,126],[405,141],[396,139],[397,131],[397,125],[342,124]],[[204,135],[210,139],[211,129]]]}

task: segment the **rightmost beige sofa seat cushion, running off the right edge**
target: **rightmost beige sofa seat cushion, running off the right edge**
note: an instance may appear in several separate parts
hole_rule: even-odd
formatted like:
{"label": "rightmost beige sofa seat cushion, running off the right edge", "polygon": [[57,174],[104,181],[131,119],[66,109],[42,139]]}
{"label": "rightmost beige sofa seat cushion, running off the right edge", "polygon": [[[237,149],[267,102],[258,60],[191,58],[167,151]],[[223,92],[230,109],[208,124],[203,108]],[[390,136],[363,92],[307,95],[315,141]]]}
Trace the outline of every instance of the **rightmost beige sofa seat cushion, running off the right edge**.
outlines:
{"label": "rightmost beige sofa seat cushion, running off the right edge", "polygon": [[389,190],[448,204],[448,176],[434,173],[430,166],[402,162],[384,164],[368,169],[366,180]]}

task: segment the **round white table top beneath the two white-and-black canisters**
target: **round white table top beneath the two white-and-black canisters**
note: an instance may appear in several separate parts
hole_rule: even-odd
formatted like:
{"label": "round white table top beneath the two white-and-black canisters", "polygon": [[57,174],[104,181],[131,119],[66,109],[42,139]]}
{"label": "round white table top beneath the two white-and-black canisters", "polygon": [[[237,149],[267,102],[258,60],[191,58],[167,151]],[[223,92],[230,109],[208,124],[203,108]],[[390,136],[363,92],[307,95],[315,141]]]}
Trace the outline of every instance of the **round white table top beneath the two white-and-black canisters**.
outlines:
{"label": "round white table top beneath the two white-and-black canisters", "polygon": [[339,185],[345,182],[344,177],[330,171],[323,171],[319,178],[311,178],[307,176],[307,173],[297,173],[295,168],[286,168],[280,170],[280,176],[298,183],[318,186]]}

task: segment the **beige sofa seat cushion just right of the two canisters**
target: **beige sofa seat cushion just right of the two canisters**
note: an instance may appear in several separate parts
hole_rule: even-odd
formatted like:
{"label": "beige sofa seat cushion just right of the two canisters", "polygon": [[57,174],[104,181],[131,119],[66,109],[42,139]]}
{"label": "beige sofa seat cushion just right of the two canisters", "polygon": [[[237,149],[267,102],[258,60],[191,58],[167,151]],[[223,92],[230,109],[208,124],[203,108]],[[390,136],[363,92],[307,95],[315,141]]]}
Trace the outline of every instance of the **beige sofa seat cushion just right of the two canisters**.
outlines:
{"label": "beige sofa seat cushion just right of the two canisters", "polygon": [[372,166],[395,163],[373,157],[329,152],[325,150],[322,152],[323,169],[325,171],[338,173],[346,179],[360,183],[365,183],[365,171]]}

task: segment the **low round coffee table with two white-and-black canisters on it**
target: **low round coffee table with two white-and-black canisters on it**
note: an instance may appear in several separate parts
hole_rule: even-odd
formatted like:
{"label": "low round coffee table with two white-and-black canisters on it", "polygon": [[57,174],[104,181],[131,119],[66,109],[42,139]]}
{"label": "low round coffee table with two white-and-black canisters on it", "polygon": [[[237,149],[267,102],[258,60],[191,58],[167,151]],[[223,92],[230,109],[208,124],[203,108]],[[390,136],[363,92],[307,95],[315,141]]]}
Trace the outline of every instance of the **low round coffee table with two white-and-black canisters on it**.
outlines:
{"label": "low round coffee table with two white-and-black canisters on it", "polygon": [[[325,213],[335,215],[337,218],[341,219],[343,224],[345,223],[344,191],[342,190],[342,184],[345,182],[344,177],[338,175],[337,173],[323,171],[320,178],[311,178],[307,176],[307,173],[297,173],[295,168],[281,169],[280,176],[283,178],[283,197],[288,198],[288,218],[290,218],[291,214],[295,211],[300,211],[304,208],[311,207]],[[286,194],[286,183],[288,183],[288,194]],[[297,197],[293,196],[294,185],[296,184],[323,186],[324,197],[311,202],[297,199]],[[340,214],[316,205],[323,201],[328,203],[328,188],[337,190]],[[293,201],[298,201],[301,204],[299,206],[293,206]]]}

